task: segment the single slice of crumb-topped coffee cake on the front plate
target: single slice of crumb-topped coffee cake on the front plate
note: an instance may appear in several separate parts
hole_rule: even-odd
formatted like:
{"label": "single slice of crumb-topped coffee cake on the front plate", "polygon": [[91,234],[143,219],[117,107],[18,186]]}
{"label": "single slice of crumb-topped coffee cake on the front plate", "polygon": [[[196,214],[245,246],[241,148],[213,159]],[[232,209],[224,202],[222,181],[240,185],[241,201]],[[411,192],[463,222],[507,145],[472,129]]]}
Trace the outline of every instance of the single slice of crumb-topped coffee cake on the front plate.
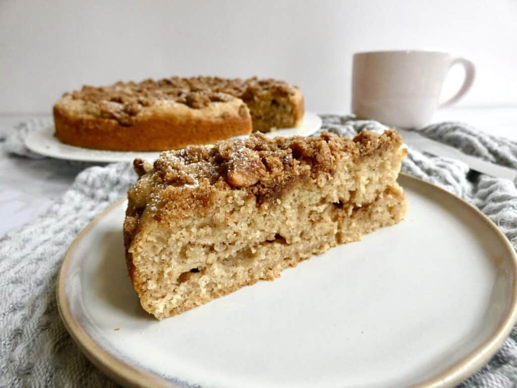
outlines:
{"label": "single slice of crumb-topped coffee cake on the front plate", "polygon": [[136,159],[124,235],[142,307],[170,317],[399,222],[401,145],[395,131],[255,134]]}

